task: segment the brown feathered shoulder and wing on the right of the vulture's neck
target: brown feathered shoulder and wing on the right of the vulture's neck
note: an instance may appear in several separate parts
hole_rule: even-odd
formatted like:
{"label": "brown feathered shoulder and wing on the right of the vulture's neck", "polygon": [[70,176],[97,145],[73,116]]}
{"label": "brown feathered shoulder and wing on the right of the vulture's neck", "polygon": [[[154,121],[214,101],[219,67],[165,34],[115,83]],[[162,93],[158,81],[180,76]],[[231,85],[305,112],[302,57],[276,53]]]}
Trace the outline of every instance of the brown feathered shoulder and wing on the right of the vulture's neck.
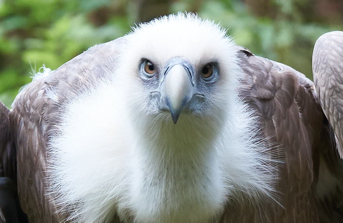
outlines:
{"label": "brown feathered shoulder and wing on the right of the vulture's neck", "polygon": [[[260,117],[261,134],[283,154],[276,188],[283,207],[265,203],[256,210],[228,205],[222,222],[320,222],[314,159],[317,162],[323,151],[332,151],[333,145],[314,85],[291,67],[246,51],[239,52],[244,71],[239,93]],[[330,160],[337,163],[336,157]]]}

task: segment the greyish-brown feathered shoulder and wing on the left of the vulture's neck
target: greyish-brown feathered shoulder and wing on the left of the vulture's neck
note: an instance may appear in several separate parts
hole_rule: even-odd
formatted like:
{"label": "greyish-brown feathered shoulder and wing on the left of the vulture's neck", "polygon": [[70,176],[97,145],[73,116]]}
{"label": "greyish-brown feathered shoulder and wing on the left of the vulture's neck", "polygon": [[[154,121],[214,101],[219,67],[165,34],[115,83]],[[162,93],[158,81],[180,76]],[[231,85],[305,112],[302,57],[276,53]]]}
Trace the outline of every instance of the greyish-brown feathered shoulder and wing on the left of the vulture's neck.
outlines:
{"label": "greyish-brown feathered shoulder and wing on the left of the vulture's neck", "polygon": [[52,71],[37,77],[16,97],[10,124],[17,145],[17,179],[21,206],[31,223],[61,222],[54,200],[47,194],[49,139],[57,133],[56,119],[63,104],[100,78],[116,70],[125,38],[94,46]]}

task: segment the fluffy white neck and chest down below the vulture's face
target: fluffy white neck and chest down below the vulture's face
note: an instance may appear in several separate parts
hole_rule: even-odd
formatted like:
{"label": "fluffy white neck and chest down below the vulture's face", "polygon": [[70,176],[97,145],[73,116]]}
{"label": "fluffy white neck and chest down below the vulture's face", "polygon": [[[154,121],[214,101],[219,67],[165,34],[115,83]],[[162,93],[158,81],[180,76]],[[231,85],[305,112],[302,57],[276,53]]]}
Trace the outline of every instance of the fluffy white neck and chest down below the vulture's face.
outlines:
{"label": "fluffy white neck and chest down below the vulture's face", "polygon": [[[138,133],[128,125],[129,114],[107,119],[120,112],[112,87],[69,104],[60,134],[51,140],[49,193],[70,220],[106,222],[117,213],[125,222],[207,223],[219,220],[229,197],[272,198],[274,170],[261,164],[268,160],[258,152],[265,145],[256,140],[254,117],[241,102],[229,109],[235,117],[211,127],[223,134],[203,137],[212,120],[190,124],[181,114],[173,124],[168,113],[169,125],[147,125]],[[105,102],[116,106],[85,123]]]}

